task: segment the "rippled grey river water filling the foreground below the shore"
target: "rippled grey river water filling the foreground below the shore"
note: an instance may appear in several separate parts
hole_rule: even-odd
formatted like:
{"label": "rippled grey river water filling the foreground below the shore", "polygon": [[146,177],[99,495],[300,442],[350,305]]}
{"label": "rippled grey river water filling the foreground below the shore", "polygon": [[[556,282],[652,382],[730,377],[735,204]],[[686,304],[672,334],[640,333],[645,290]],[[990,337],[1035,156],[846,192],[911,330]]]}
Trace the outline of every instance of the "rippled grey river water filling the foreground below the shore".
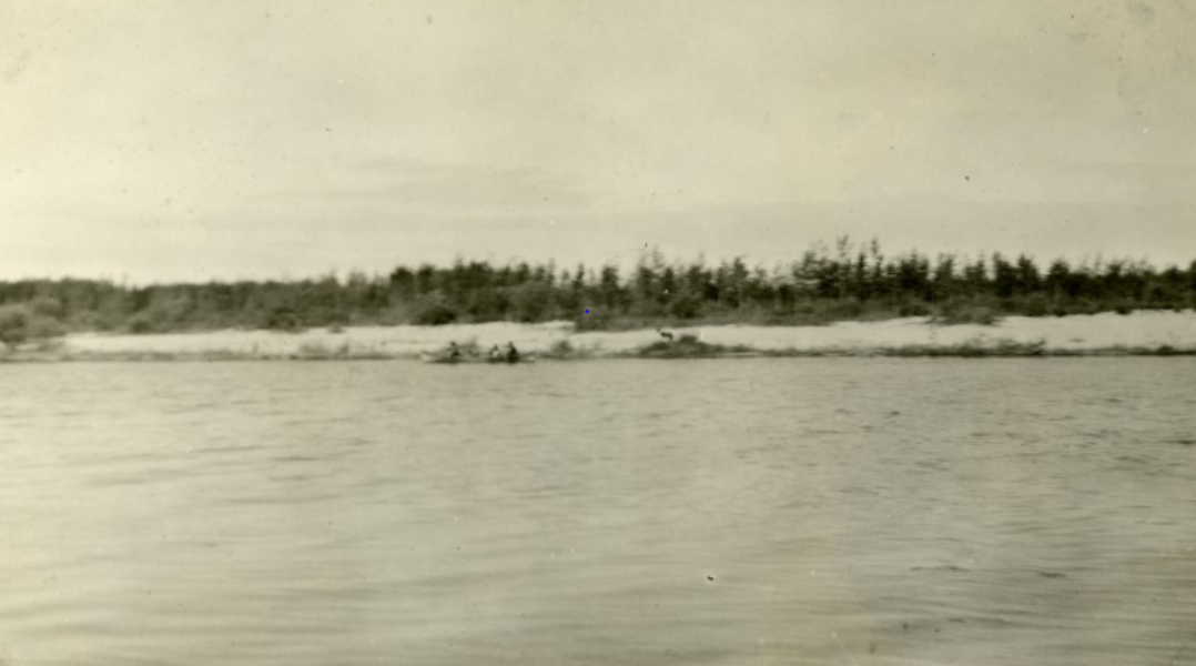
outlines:
{"label": "rippled grey river water filling the foreground below the shore", "polygon": [[12,665],[1196,664],[1196,362],[0,366]]}

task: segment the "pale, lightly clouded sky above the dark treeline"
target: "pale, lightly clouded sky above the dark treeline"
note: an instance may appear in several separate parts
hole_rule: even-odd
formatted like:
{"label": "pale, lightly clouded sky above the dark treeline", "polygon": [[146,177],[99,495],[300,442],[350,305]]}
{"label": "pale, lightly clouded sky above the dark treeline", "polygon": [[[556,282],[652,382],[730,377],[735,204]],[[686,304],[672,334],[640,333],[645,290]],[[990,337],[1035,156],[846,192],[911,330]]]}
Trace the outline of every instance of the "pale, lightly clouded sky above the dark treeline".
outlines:
{"label": "pale, lightly clouded sky above the dark treeline", "polygon": [[1196,258],[1189,0],[0,0],[0,280]]}

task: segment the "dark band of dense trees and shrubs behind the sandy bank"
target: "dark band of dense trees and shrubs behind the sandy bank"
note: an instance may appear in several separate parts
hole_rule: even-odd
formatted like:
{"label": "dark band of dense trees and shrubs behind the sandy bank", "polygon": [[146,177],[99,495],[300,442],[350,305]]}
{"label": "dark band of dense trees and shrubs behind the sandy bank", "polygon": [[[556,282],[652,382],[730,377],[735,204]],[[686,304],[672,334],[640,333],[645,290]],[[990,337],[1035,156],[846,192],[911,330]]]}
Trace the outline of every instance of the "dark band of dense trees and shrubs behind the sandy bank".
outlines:
{"label": "dark band of dense trees and shrubs behind the sandy bank", "polygon": [[[645,251],[628,273],[614,264],[457,261],[398,267],[389,275],[298,281],[126,286],[97,280],[0,282],[0,320],[29,337],[97,330],[138,334],[220,328],[297,330],[368,324],[547,322],[582,329],[697,323],[823,324],[932,316],[991,323],[1005,314],[1064,316],[1196,305],[1196,261],[1155,268],[1141,261],[1026,256],[892,257],[877,242],[840,238],[775,267],[743,258],[708,264]],[[5,326],[0,326],[5,328]]]}

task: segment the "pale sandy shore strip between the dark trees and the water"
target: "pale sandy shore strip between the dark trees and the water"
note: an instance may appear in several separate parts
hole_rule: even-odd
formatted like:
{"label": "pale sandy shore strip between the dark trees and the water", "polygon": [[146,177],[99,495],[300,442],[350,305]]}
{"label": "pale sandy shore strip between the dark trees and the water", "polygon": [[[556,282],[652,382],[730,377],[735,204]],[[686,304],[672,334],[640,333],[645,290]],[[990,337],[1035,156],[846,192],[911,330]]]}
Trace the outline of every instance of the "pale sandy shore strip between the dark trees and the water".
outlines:
{"label": "pale sandy shore strip between the dark trees and the water", "polygon": [[[1078,355],[1196,353],[1196,313],[1135,312],[1063,318],[1008,317],[995,325],[942,326],[926,318],[844,322],[829,326],[679,328],[709,355]],[[569,323],[367,326],[303,332],[224,330],[171,335],[74,334],[50,347],[25,347],[7,360],[417,359],[448,342],[513,342],[559,358],[634,355],[660,342],[652,330],[576,332]],[[957,354],[958,353],[958,354]]]}

